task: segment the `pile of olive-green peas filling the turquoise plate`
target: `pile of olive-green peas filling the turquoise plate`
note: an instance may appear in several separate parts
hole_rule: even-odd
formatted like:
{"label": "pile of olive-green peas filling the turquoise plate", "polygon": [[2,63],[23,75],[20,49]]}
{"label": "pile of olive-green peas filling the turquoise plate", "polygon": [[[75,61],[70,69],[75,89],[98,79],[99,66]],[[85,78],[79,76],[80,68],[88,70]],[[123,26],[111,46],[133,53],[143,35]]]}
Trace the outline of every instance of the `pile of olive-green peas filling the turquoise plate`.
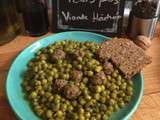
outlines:
{"label": "pile of olive-green peas filling the turquoise plate", "polygon": [[[83,56],[51,60],[56,49],[65,54],[82,51]],[[108,120],[131,101],[133,82],[126,80],[117,68],[107,74],[102,84],[92,85],[94,75],[103,71],[97,57],[99,45],[93,42],[64,40],[40,49],[29,62],[22,87],[35,113],[44,120]],[[72,79],[72,71],[82,72],[81,81]],[[56,79],[79,87],[81,94],[67,99],[53,90]]]}

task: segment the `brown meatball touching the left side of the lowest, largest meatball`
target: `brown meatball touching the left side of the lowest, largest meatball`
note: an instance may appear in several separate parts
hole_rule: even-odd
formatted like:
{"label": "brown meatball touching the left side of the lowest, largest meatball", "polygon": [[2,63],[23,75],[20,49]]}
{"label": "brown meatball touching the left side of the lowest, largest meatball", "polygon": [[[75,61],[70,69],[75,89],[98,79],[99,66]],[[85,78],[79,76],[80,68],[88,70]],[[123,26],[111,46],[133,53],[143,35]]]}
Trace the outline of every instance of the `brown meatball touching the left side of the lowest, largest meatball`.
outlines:
{"label": "brown meatball touching the left side of the lowest, largest meatball", "polygon": [[63,79],[56,79],[53,84],[53,89],[60,91],[62,88],[67,85],[67,81]]}

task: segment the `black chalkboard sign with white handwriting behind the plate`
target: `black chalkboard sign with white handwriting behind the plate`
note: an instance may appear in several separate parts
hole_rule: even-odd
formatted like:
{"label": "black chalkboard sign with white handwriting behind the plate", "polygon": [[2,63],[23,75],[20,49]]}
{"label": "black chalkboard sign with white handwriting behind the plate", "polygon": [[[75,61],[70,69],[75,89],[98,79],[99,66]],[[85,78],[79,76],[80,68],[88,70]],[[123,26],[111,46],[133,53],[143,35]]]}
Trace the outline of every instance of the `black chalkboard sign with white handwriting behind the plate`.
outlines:
{"label": "black chalkboard sign with white handwriting behind the plate", "polygon": [[117,35],[125,0],[53,0],[53,31],[82,30]]}

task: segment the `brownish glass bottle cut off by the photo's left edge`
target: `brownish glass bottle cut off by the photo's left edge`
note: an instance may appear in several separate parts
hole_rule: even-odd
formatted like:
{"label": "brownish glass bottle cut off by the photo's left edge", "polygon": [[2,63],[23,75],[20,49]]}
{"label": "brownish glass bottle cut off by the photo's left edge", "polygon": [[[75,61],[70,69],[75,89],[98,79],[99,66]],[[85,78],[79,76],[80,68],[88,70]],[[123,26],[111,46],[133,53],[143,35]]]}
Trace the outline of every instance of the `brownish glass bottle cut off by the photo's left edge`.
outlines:
{"label": "brownish glass bottle cut off by the photo's left edge", "polygon": [[0,0],[0,45],[13,40],[20,32],[15,0]]}

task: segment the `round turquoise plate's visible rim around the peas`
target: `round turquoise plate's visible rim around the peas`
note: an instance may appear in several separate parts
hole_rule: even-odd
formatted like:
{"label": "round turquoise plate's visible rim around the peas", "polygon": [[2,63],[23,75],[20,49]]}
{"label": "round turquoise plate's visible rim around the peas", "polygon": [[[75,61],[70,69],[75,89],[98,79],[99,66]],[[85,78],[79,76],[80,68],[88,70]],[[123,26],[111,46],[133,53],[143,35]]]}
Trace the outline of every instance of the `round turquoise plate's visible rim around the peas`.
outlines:
{"label": "round turquoise plate's visible rim around the peas", "polygon": [[[54,43],[55,41],[66,39],[76,40],[79,42],[93,41],[96,43],[101,43],[105,40],[110,40],[111,38],[91,32],[62,32],[42,38],[41,40],[24,49],[14,60],[9,70],[6,82],[6,92],[9,103],[19,119],[40,119],[32,111],[29,102],[24,99],[24,92],[22,92],[22,73],[27,69],[27,63],[34,57],[34,54],[40,48],[46,47],[49,44]],[[120,109],[118,112],[114,113],[110,118],[111,120],[128,120],[129,117],[131,117],[131,115],[136,111],[143,96],[143,76],[141,74],[137,74],[133,77],[133,81],[134,95],[132,101],[123,109]]]}

